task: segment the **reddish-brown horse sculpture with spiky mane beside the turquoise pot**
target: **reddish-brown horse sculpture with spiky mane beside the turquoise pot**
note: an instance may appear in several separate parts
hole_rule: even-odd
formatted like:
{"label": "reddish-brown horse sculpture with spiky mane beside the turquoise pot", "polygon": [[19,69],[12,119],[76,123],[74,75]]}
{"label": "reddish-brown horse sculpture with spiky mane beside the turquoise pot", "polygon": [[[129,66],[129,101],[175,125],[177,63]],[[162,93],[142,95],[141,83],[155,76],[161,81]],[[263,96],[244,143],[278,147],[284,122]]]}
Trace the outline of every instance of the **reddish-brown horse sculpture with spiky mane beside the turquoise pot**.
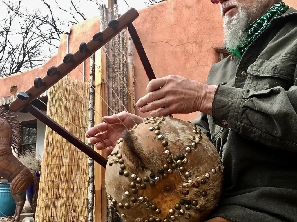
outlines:
{"label": "reddish-brown horse sculpture with spiky mane beside the turquoise pot", "polygon": [[11,111],[0,108],[0,176],[11,181],[10,192],[16,202],[15,214],[12,222],[20,221],[25,201],[23,193],[32,184],[34,185],[34,195],[32,201],[32,209],[35,215],[39,179],[31,173],[13,154],[12,148],[16,152],[19,147],[20,125],[17,116]]}

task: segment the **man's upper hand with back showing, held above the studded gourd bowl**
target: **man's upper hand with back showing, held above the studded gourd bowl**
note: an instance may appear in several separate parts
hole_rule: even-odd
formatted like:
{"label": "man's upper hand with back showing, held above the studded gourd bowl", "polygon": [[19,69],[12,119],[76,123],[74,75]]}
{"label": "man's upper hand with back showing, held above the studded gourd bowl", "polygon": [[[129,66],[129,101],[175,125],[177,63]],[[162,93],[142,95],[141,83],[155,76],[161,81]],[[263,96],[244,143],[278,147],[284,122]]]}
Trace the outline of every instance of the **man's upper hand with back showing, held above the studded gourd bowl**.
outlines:
{"label": "man's upper hand with back showing, held above the studded gourd bowl", "polygon": [[[216,89],[217,86],[169,75],[151,80],[146,88],[148,94],[140,98],[136,105],[141,112],[152,111],[153,117],[196,111],[212,115]],[[165,108],[159,109],[161,107]]]}

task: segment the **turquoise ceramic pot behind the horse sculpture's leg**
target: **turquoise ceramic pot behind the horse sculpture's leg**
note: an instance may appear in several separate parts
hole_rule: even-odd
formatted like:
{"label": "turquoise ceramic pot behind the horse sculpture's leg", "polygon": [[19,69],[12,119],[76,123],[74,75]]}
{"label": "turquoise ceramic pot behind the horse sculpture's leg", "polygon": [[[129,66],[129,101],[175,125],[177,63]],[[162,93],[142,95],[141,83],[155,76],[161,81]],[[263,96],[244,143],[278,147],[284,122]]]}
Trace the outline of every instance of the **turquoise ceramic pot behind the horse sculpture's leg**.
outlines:
{"label": "turquoise ceramic pot behind the horse sculpture's leg", "polygon": [[[13,216],[15,214],[15,200],[10,193],[11,182],[0,182],[0,217]],[[26,192],[23,194],[26,201]]]}

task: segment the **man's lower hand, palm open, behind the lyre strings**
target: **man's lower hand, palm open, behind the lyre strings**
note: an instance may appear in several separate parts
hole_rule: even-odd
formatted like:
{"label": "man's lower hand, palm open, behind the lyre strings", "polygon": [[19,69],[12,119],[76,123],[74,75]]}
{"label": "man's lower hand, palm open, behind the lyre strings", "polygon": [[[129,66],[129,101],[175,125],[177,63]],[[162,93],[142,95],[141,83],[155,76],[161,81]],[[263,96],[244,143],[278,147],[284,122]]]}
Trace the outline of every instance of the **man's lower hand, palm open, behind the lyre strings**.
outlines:
{"label": "man's lower hand, palm open, behind the lyre strings", "polygon": [[120,112],[109,117],[102,117],[100,123],[86,132],[86,137],[90,138],[92,144],[98,150],[106,148],[109,155],[121,138],[125,129],[131,129],[135,124],[140,124],[144,119],[140,116],[128,112]]}

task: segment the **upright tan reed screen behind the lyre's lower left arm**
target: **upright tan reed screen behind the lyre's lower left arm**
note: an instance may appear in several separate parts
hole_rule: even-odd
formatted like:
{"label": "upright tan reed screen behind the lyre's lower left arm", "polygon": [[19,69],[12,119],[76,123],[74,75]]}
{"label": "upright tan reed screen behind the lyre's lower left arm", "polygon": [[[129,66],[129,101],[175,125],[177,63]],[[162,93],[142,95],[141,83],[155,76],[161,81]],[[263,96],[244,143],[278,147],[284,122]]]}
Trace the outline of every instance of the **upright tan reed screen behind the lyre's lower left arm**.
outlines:
{"label": "upright tan reed screen behind the lyre's lower left arm", "polygon": [[[47,115],[87,143],[88,101],[89,84],[65,77],[49,89]],[[35,221],[86,222],[87,215],[88,157],[46,127]]]}

